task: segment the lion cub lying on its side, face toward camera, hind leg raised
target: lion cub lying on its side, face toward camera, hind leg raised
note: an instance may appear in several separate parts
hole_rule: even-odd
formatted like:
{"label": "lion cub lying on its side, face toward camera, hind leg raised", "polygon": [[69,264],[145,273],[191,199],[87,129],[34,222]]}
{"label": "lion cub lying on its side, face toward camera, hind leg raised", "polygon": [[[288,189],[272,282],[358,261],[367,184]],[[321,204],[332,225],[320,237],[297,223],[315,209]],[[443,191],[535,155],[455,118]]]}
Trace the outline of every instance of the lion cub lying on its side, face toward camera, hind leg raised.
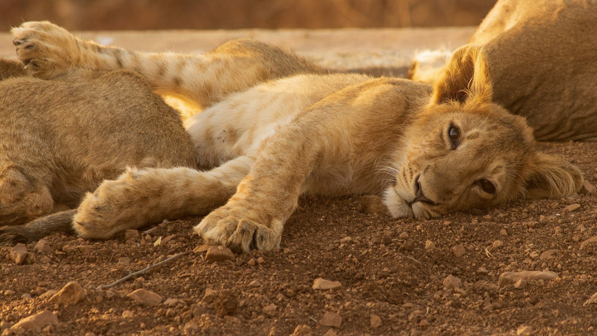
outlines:
{"label": "lion cub lying on its side, face toward camera, hind leg raised", "polygon": [[186,127],[212,169],[129,169],[103,182],[74,217],[82,237],[207,214],[195,230],[208,242],[271,249],[305,193],[384,194],[393,216],[431,218],[581,186],[576,167],[538,152],[525,119],[492,101],[475,45],[456,50],[432,87],[328,74],[250,39],[191,55],[103,47],[48,22],[13,34],[36,77],[132,69],[158,93],[205,107]]}

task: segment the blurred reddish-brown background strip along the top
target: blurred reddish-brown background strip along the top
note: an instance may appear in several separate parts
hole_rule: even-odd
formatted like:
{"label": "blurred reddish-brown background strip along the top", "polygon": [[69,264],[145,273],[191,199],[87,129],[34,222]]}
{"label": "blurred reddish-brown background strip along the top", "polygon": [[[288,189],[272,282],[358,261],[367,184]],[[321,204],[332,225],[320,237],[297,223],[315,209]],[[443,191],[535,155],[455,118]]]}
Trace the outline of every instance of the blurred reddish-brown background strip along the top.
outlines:
{"label": "blurred reddish-brown background strip along the top", "polygon": [[0,0],[0,29],[70,30],[476,26],[496,0]]}

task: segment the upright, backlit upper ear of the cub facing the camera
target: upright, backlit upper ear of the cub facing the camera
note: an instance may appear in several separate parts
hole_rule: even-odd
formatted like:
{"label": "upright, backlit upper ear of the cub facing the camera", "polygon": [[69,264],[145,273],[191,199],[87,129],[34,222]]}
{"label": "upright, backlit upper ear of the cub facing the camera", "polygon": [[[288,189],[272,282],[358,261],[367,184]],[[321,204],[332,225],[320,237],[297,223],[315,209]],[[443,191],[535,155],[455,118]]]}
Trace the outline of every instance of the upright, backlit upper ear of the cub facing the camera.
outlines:
{"label": "upright, backlit upper ear of the cub facing the camera", "polygon": [[432,102],[488,103],[492,95],[485,51],[479,45],[468,44],[454,51],[444,72],[433,84]]}

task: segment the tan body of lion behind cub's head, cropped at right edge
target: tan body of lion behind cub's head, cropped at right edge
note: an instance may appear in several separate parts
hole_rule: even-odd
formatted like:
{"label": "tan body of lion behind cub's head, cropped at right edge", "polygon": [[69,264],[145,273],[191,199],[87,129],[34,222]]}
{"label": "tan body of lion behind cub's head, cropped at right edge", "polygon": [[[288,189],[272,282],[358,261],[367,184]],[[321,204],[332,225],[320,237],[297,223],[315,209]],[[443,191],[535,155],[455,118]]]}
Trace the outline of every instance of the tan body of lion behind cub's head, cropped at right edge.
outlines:
{"label": "tan body of lion behind cub's head, cropped at right edge", "polygon": [[[539,140],[597,141],[596,22],[595,0],[500,0],[469,40],[487,50],[494,100]],[[416,56],[410,78],[435,81],[444,55]]]}

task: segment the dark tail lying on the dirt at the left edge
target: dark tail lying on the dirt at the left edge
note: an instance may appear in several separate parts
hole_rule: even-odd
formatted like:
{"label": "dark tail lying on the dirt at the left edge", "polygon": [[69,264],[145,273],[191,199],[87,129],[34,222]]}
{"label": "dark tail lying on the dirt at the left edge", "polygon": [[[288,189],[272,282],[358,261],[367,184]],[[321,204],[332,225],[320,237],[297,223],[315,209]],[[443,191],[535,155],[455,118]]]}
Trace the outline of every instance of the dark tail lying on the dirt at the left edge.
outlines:
{"label": "dark tail lying on the dirt at the left edge", "polygon": [[35,219],[25,225],[0,227],[0,247],[14,246],[17,243],[30,243],[42,239],[54,232],[72,234],[72,222],[76,209],[53,213]]}

